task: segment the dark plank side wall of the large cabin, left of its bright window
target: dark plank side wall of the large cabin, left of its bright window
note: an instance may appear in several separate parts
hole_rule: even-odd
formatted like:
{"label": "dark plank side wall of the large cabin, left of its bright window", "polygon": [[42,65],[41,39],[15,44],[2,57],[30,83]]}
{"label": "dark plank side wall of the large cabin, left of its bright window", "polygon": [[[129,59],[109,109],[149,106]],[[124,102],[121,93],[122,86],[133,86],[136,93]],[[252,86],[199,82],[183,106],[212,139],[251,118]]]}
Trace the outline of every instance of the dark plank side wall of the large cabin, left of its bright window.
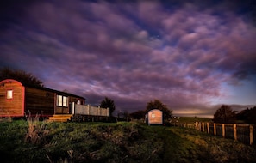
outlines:
{"label": "dark plank side wall of the large cabin, left of its bright window", "polygon": [[51,116],[54,114],[55,94],[51,91],[41,90],[37,88],[25,89],[25,112],[32,115],[42,114],[43,116]]}

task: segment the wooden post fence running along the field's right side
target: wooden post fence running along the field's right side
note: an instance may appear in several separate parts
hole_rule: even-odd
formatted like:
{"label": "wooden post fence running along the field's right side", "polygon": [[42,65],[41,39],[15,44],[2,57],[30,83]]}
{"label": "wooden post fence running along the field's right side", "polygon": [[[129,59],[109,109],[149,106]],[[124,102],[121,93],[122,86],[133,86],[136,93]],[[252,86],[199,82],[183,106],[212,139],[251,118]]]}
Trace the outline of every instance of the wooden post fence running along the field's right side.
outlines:
{"label": "wooden post fence running along the field's right side", "polygon": [[209,122],[196,122],[194,124],[175,123],[175,125],[207,132],[214,136],[231,138],[250,145],[255,143],[256,140],[256,127],[253,124],[215,124]]}

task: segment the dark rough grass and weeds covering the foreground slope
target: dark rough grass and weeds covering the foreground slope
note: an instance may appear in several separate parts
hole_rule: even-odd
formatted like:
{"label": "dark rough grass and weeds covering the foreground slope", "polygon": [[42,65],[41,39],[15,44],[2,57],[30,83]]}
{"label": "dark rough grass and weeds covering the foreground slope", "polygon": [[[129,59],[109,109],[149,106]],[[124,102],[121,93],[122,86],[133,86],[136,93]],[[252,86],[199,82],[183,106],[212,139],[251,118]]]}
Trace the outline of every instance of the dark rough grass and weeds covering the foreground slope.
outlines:
{"label": "dark rough grass and weeds covering the foreground slope", "polygon": [[256,154],[196,130],[138,123],[13,121],[0,130],[2,162],[255,162]]}

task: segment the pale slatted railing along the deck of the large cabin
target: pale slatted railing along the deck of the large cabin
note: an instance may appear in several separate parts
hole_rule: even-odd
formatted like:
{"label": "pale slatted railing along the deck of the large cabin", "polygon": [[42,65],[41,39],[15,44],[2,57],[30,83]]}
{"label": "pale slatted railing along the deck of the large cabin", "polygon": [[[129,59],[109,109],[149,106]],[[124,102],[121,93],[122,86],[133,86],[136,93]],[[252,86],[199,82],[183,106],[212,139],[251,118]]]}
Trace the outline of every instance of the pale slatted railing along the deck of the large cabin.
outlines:
{"label": "pale slatted railing along the deck of the large cabin", "polygon": [[103,116],[109,117],[109,108],[101,108],[96,106],[75,105],[75,114],[88,116]]}

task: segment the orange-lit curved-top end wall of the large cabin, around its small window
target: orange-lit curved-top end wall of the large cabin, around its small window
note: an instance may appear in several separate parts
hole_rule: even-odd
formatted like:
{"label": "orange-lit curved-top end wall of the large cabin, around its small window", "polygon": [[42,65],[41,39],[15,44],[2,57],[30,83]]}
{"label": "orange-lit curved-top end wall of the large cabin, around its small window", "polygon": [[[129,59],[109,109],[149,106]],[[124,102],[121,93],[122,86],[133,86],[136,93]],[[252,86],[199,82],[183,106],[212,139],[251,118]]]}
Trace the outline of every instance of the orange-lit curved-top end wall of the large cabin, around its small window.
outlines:
{"label": "orange-lit curved-top end wall of the large cabin, around its small window", "polygon": [[[13,90],[13,98],[7,100],[7,90]],[[22,117],[24,115],[24,87],[18,82],[0,85],[0,117]]]}

